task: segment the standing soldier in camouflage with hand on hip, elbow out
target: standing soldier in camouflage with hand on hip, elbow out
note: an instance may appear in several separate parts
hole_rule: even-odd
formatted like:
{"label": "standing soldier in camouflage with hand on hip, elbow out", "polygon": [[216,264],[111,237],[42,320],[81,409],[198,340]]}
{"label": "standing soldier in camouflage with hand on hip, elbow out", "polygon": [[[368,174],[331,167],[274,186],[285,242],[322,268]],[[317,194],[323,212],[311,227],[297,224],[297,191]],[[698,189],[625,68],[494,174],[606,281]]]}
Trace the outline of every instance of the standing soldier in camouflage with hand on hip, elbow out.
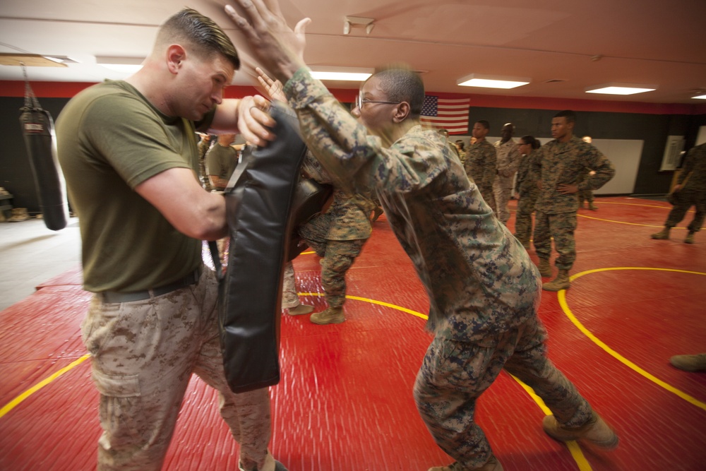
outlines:
{"label": "standing soldier in camouflage with hand on hip, elbow out", "polygon": [[[532,160],[532,172],[537,174],[541,190],[535,206],[534,249],[539,256],[542,276],[551,276],[552,237],[559,254],[555,262],[558,275],[542,285],[547,291],[566,290],[570,286],[569,270],[576,259],[573,237],[578,210],[576,193],[599,189],[615,174],[613,164],[600,150],[573,135],[575,121],[574,112],[568,109],[558,112],[551,120],[554,141],[542,145],[537,150],[537,158]],[[578,184],[585,168],[596,174]]]}

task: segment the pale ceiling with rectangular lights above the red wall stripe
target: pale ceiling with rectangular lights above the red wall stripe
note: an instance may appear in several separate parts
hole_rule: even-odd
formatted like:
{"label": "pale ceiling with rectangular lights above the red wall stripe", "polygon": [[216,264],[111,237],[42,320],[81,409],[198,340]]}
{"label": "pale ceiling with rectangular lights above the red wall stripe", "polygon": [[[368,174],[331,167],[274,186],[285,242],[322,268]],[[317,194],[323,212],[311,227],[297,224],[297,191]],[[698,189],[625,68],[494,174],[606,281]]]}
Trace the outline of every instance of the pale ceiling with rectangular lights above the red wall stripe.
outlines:
{"label": "pale ceiling with rectangular lights above the red wall stripe", "polygon": [[[68,56],[66,68],[29,67],[30,81],[98,82],[124,78],[96,56],[145,57],[157,27],[190,6],[242,41],[226,0],[2,0],[0,52]],[[309,16],[306,61],[312,66],[372,68],[391,62],[424,71],[434,92],[691,103],[706,90],[705,0],[280,0],[289,23]],[[375,18],[343,34],[345,16]],[[252,84],[251,61],[234,83]],[[599,60],[593,60],[599,56]],[[531,77],[514,90],[459,87],[470,73]],[[0,66],[0,80],[23,80]],[[556,82],[549,82],[556,81]],[[630,97],[591,95],[603,83],[654,84]],[[331,88],[357,88],[330,82]],[[1,83],[0,83],[1,87]]]}

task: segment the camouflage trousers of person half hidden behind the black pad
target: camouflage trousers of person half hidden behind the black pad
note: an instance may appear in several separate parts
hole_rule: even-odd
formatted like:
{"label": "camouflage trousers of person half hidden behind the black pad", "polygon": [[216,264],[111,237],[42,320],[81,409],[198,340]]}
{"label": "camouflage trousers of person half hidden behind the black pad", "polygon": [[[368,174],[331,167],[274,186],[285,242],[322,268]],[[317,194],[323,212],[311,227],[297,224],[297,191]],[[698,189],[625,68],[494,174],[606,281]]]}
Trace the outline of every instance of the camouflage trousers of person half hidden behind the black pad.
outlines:
{"label": "camouflage trousers of person half hidden behind the black pad", "polygon": [[346,272],[368,239],[329,240],[316,225],[306,224],[299,235],[321,257],[321,286],[329,306],[340,308],[346,302]]}

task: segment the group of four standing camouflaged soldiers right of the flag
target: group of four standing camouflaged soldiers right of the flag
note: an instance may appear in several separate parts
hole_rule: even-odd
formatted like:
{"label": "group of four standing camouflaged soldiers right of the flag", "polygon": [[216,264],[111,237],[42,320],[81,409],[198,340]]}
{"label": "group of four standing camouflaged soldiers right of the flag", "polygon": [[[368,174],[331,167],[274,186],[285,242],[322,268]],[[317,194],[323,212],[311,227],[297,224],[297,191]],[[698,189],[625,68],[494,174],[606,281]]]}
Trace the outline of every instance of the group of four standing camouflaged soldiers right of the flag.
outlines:
{"label": "group of four standing camouflaged soldiers right of the flag", "polygon": [[[479,120],[472,129],[475,142],[462,158],[468,178],[505,225],[510,219],[508,201],[515,189],[519,199],[515,237],[525,249],[530,249],[532,212],[536,211],[534,248],[543,277],[553,274],[549,258],[554,238],[558,274],[542,285],[547,291],[570,286],[568,270],[576,258],[573,233],[578,208],[585,200],[590,210],[596,210],[592,191],[615,174],[611,162],[591,145],[590,138],[573,135],[575,121],[575,113],[570,110],[556,114],[551,125],[554,140],[540,147],[534,136],[523,136],[519,143],[513,141],[512,123],[503,126],[501,140],[493,145],[486,140],[488,121]],[[515,174],[517,182],[513,184]]]}

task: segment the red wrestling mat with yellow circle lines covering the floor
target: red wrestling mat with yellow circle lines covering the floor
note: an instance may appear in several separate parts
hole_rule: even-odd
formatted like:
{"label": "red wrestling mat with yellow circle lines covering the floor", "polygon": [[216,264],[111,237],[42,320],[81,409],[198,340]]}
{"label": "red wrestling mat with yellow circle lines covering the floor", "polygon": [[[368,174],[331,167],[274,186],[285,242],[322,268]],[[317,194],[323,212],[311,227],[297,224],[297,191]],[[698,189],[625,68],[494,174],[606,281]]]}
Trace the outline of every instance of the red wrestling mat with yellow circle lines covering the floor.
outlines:
{"label": "red wrestling mat with yellow circle lines covering the floor", "polygon": [[[572,287],[545,292],[540,313],[549,356],[614,425],[619,448],[552,441],[540,406],[504,373],[479,400],[477,421],[508,471],[702,470],[706,374],[674,369],[669,357],[706,351],[706,234],[693,245],[683,244],[683,229],[652,240],[667,203],[596,203],[597,211],[579,211]],[[299,292],[311,293],[302,302],[321,308],[318,258],[302,254],[294,268]],[[412,399],[431,341],[417,314],[429,303],[384,216],[347,284],[345,323],[282,319],[282,381],[271,390],[274,455],[290,471],[426,471],[449,463]],[[89,299],[74,270],[0,312],[1,470],[95,469],[97,393],[80,341]],[[236,467],[237,446],[215,394],[193,378],[164,469]]]}

